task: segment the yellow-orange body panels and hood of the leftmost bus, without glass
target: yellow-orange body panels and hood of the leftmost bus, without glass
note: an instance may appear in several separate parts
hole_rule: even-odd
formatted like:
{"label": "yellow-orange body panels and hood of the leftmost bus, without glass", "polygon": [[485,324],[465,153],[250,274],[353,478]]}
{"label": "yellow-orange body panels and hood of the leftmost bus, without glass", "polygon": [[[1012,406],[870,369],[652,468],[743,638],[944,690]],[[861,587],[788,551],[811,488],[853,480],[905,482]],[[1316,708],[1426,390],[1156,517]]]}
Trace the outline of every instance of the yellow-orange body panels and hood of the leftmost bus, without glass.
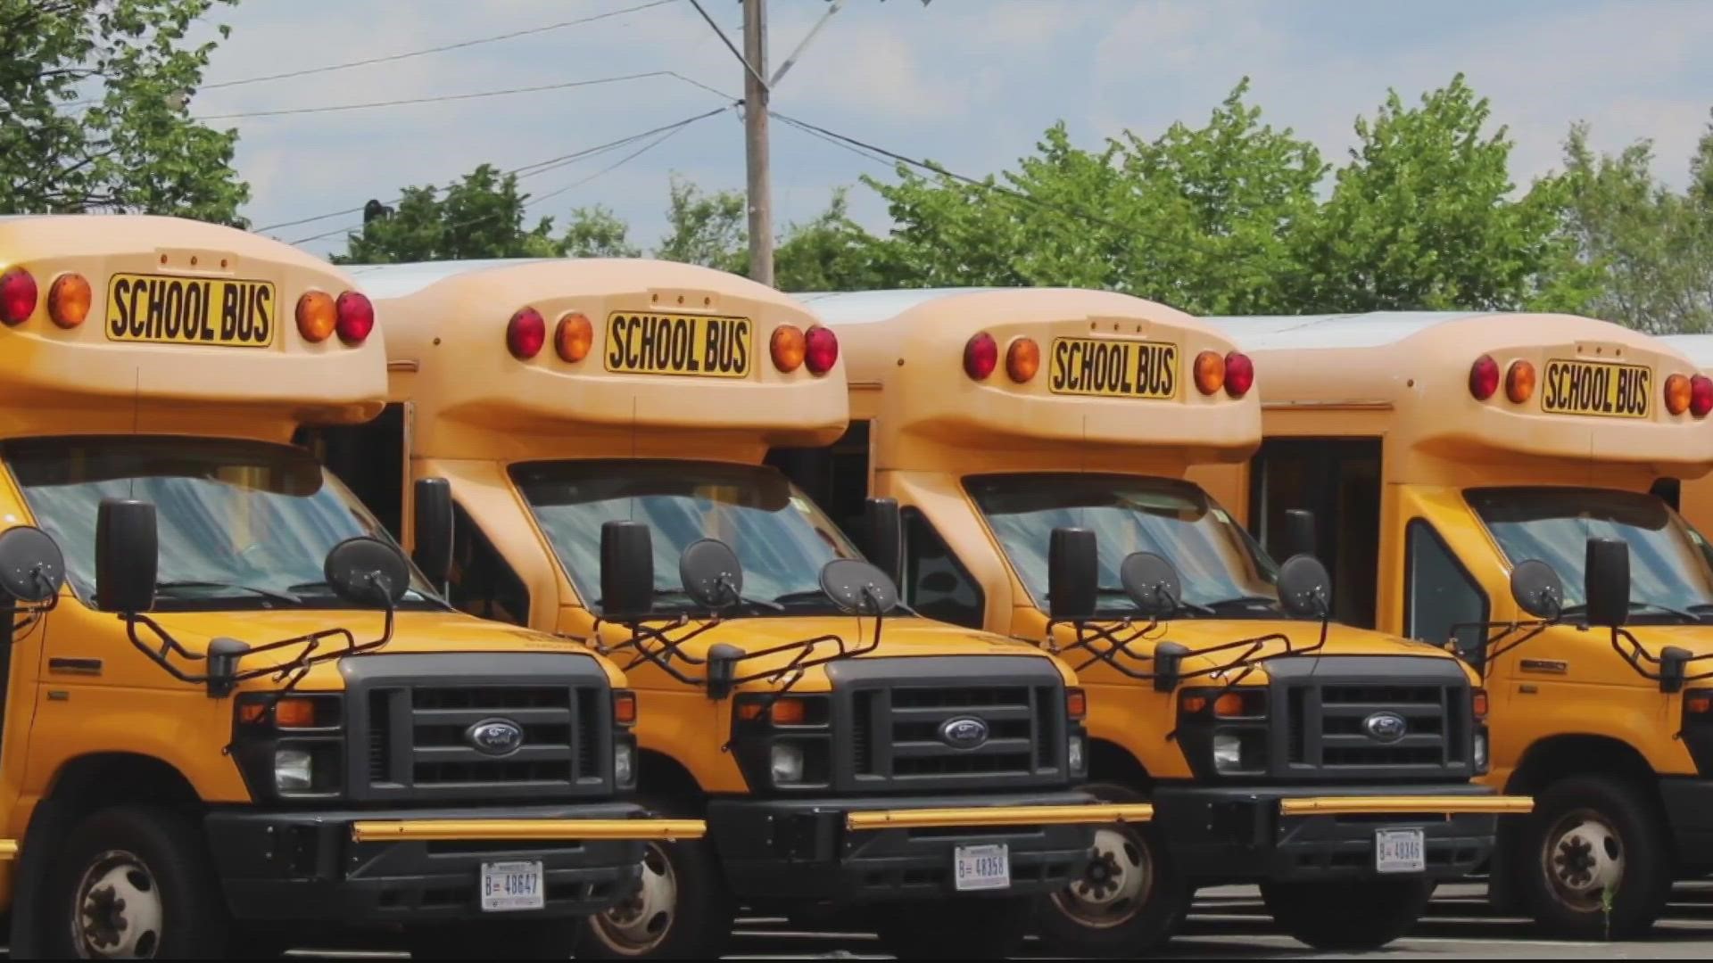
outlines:
{"label": "yellow-orange body panels and hood of the leftmost bus, without glass", "polygon": [[[27,319],[0,327],[0,440],[142,434],[286,444],[301,423],[356,423],[385,403],[385,322],[361,346],[339,338],[305,341],[293,322],[298,296],[337,296],[355,284],[327,262],[283,243],[173,218],[0,218],[0,272],[12,267],[36,279],[39,296]],[[50,286],[69,272],[82,274],[93,290],[87,320],[70,329],[48,317]],[[120,339],[108,336],[108,326],[120,320],[110,293],[132,296],[130,288],[110,284],[120,274],[206,281],[211,291],[238,291],[242,281],[247,291],[269,286],[271,295],[252,314],[248,341]],[[216,295],[216,303],[223,296]],[[137,303],[128,302],[125,310]],[[218,341],[219,314],[209,317]],[[271,327],[266,346],[255,343],[262,317]],[[0,473],[0,519],[7,526],[33,523],[10,473]],[[373,639],[382,627],[380,613],[349,610],[185,612],[156,619],[194,653],[221,636],[264,643],[343,625],[358,639]],[[385,651],[593,656],[564,637],[456,612],[401,612]],[[624,685],[624,675],[600,661],[612,684]],[[36,805],[55,792],[62,773],[91,757],[146,757],[182,776],[202,802],[250,802],[228,752],[233,699],[211,699],[200,685],[168,677],[127,641],[122,619],[94,610],[70,588],[51,613],[14,641],[10,679],[0,682],[9,692],[0,831],[14,840],[24,838]],[[279,684],[264,677],[242,684],[240,692]],[[301,692],[341,687],[331,661],[296,682]],[[10,894],[10,870],[0,870],[0,905]]]}

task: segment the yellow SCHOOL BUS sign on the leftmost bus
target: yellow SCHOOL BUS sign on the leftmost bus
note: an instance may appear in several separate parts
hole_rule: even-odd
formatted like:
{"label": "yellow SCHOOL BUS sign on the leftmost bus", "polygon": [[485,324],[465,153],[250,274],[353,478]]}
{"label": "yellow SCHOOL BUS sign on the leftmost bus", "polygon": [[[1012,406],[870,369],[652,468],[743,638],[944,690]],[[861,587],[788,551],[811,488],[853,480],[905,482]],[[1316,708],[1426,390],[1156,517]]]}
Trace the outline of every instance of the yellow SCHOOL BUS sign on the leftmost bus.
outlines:
{"label": "yellow SCHOOL BUS sign on the leftmost bus", "polygon": [[279,327],[271,281],[115,274],[108,281],[108,341],[267,348]]}

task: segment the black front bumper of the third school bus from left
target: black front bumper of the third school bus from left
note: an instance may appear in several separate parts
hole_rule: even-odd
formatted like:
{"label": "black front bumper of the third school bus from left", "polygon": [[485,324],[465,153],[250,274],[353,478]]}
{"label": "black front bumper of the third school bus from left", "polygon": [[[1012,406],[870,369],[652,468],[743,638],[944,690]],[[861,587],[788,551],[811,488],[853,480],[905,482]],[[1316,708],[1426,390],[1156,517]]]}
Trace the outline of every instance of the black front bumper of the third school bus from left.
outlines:
{"label": "black front bumper of the third school bus from left", "polygon": [[1470,874],[1494,848],[1499,817],[1280,816],[1281,799],[1350,795],[1494,795],[1468,783],[1417,787],[1206,787],[1155,788],[1155,826],[1179,870],[1197,881],[1379,879],[1377,829],[1422,829],[1427,879]]}

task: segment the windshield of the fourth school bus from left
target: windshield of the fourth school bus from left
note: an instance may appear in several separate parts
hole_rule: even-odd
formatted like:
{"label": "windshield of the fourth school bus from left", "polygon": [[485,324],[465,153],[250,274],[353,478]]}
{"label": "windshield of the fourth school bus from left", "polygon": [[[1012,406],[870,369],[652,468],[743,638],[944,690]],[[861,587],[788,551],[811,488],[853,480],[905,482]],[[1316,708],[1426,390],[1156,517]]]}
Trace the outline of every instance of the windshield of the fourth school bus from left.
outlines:
{"label": "windshield of the fourth school bus from left", "polygon": [[1610,488],[1471,488],[1470,507],[1513,565],[1538,559],[1564,579],[1564,608],[1586,603],[1590,538],[1629,543],[1631,619],[1682,622],[1713,615],[1713,569],[1689,524],[1655,495]]}

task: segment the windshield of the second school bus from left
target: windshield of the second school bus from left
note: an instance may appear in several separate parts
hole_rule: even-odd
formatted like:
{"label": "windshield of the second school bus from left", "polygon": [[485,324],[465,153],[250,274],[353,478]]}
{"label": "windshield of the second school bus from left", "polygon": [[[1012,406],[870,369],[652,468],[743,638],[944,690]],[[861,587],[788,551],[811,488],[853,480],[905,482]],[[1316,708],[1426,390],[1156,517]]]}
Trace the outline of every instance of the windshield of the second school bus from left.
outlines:
{"label": "windshield of the second school bus from left", "polygon": [[560,564],[591,608],[601,595],[601,524],[641,521],[654,545],[661,608],[690,608],[678,557],[702,538],[731,547],[755,615],[831,612],[821,569],[856,550],[773,468],[706,461],[540,461],[512,468]]}

